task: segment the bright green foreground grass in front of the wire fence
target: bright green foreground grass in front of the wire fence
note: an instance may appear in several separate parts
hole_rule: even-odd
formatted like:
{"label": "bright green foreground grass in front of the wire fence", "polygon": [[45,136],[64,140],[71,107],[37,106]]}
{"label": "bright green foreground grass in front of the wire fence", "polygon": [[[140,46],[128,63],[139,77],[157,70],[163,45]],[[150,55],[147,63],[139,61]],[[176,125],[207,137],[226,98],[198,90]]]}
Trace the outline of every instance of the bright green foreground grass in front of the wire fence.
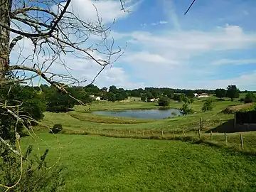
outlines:
{"label": "bright green foreground grass in front of the wire fence", "polygon": [[[53,148],[52,134],[38,133]],[[61,191],[253,191],[256,157],[179,141],[58,134]],[[31,137],[21,144],[36,143]],[[41,150],[46,148],[39,142]],[[50,149],[53,164],[58,151]]]}

